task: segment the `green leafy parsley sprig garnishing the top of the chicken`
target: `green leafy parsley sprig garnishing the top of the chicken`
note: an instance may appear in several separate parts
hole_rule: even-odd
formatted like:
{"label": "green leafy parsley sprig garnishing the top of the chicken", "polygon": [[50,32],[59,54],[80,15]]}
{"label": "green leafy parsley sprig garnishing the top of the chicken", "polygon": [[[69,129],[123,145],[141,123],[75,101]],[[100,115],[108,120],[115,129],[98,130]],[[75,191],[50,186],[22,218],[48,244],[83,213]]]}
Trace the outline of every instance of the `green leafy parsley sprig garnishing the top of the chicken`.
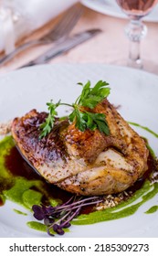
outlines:
{"label": "green leafy parsley sprig garnishing the top of the chicken", "polygon": [[85,85],[80,82],[79,85],[81,85],[82,91],[75,103],[68,104],[61,101],[58,101],[57,103],[53,103],[53,101],[47,102],[49,113],[45,123],[40,125],[40,129],[42,130],[39,136],[40,139],[50,133],[53,128],[55,117],[58,115],[56,109],[60,105],[67,105],[73,108],[73,112],[68,115],[68,120],[71,123],[75,122],[75,126],[81,132],[84,132],[86,129],[94,131],[98,128],[101,133],[105,133],[107,135],[110,133],[104,113],[94,113],[86,110],[94,109],[100,101],[108,97],[111,90],[108,87],[109,83],[99,80],[96,85],[91,88],[89,80]]}

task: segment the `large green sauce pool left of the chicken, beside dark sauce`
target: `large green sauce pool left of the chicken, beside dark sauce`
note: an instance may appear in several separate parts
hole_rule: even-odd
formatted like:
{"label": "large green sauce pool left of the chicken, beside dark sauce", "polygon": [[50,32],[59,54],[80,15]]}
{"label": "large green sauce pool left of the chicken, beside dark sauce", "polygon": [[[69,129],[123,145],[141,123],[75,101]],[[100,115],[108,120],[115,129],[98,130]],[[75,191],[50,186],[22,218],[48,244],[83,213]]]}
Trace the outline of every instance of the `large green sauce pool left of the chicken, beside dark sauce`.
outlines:
{"label": "large green sauce pool left of the chicken, beside dark sauce", "polygon": [[[33,205],[39,205],[43,195],[53,206],[58,204],[58,199],[51,198],[47,195],[44,188],[44,181],[27,180],[23,176],[13,176],[5,167],[5,155],[8,155],[14,146],[11,136],[5,137],[0,142],[0,200],[10,200],[18,205],[31,210]],[[32,187],[36,188],[32,189]]]}

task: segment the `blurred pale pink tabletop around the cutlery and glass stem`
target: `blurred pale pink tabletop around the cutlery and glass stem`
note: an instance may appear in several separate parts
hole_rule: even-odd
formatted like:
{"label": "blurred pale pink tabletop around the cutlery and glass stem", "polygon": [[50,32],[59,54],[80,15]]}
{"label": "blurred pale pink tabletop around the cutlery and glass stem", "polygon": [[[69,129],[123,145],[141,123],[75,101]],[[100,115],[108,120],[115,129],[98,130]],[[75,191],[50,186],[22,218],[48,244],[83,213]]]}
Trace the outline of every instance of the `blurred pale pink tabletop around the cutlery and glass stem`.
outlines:
{"label": "blurred pale pink tabletop around the cutlery and glass stem", "polygon": [[[41,37],[50,27],[54,26],[58,18],[52,20],[47,26],[38,29],[32,35],[26,37],[25,40]],[[112,65],[122,65],[124,63],[123,65],[126,65],[129,41],[124,34],[124,27],[127,23],[128,20],[126,19],[102,15],[84,7],[84,13],[71,34],[91,28],[100,28],[102,32],[62,56],[51,59],[49,63],[105,63]],[[148,33],[141,44],[142,59],[145,69],[158,75],[158,23],[146,22],[145,24],[148,27]],[[50,48],[50,46],[29,48],[0,68],[0,74],[16,69],[28,60],[35,59],[47,48]]]}

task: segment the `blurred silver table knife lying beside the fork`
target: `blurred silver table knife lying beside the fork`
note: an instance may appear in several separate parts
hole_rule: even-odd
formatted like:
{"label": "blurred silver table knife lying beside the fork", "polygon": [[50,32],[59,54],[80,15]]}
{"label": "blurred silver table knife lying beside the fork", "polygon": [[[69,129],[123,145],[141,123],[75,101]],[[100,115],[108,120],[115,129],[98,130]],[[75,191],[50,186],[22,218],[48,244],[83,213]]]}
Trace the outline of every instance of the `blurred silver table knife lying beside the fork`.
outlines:
{"label": "blurred silver table knife lying beside the fork", "polygon": [[50,59],[58,57],[58,55],[61,55],[64,52],[67,52],[71,48],[75,48],[79,44],[90,39],[91,37],[98,35],[100,32],[101,30],[96,28],[96,29],[91,29],[91,30],[81,32],[72,37],[68,37],[66,40],[58,43],[58,45],[56,45],[55,47],[48,49],[47,52],[39,56],[37,59],[29,61],[28,63],[19,67],[18,69],[47,63],[47,61],[49,61]]}

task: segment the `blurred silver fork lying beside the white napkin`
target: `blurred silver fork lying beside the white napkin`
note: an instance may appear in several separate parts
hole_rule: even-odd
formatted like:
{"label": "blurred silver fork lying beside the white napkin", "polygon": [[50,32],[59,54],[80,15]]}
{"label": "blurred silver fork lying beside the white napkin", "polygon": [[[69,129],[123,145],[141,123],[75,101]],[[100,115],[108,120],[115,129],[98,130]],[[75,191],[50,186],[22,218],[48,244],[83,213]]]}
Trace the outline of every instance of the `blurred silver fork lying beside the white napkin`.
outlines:
{"label": "blurred silver fork lying beside the white napkin", "polygon": [[68,37],[69,32],[75,27],[83,11],[81,5],[75,5],[68,9],[66,14],[61,17],[58,23],[53,27],[51,31],[47,33],[44,37],[36,40],[26,42],[25,44],[19,46],[11,53],[7,54],[4,58],[0,59],[0,67],[2,67],[6,62],[16,57],[17,54],[37,45],[51,44],[52,42],[58,42],[64,40]]}

